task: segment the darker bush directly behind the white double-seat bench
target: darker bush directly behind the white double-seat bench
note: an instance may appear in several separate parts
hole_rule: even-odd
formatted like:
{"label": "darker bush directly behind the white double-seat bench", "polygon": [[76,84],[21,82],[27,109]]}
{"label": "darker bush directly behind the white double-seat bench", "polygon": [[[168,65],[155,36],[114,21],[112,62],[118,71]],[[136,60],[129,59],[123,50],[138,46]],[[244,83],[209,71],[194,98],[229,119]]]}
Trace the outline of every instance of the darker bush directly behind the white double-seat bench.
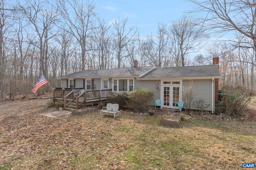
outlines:
{"label": "darker bush directly behind the white double-seat bench", "polygon": [[126,109],[127,93],[112,93],[107,98],[106,103],[118,104],[119,109]]}

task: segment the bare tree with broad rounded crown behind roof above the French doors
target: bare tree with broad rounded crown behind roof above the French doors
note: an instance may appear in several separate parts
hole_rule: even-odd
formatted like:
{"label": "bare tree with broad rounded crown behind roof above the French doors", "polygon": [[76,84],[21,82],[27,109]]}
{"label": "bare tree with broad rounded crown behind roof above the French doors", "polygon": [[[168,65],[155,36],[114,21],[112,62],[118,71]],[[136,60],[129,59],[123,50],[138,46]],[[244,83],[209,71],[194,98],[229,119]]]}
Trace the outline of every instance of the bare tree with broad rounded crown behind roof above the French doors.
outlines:
{"label": "bare tree with broad rounded crown behind roof above the French doors", "polygon": [[176,66],[185,66],[188,54],[202,49],[207,38],[206,30],[187,16],[171,23],[168,36]]}

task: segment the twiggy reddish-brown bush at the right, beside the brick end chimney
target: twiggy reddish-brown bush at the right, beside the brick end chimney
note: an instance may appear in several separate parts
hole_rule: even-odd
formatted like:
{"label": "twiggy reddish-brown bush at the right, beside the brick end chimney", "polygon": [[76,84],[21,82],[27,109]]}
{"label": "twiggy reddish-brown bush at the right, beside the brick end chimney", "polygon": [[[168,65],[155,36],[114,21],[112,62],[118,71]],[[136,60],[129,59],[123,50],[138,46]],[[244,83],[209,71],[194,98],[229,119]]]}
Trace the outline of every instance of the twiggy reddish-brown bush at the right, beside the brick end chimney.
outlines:
{"label": "twiggy reddish-brown bush at the right, beside the brick end chimney", "polygon": [[224,86],[221,91],[222,100],[219,104],[227,116],[241,116],[254,92],[243,86]]}

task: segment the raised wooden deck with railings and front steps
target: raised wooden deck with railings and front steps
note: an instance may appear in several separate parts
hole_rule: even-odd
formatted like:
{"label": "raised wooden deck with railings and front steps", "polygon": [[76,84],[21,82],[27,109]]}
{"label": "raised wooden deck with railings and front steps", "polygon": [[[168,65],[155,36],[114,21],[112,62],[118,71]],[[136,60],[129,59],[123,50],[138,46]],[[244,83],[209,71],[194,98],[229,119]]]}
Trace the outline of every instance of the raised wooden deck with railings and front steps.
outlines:
{"label": "raised wooden deck with railings and front steps", "polygon": [[54,88],[53,100],[61,100],[64,103],[64,108],[75,104],[75,109],[82,107],[83,105],[89,106],[102,102],[112,93],[112,89],[107,90],[85,90],[80,94],[81,88],[69,89],[69,88]]}

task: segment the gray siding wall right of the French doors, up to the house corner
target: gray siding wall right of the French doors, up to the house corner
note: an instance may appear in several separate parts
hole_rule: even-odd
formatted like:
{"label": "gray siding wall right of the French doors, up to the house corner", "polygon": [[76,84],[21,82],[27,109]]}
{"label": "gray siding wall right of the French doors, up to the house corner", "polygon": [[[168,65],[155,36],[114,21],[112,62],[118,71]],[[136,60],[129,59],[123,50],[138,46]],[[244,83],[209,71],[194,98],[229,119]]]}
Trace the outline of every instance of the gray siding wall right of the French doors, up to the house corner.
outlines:
{"label": "gray siding wall right of the French doors, up to the house corner", "polygon": [[[212,110],[212,80],[192,80],[193,87],[195,90],[194,99],[192,100],[191,109],[196,109],[194,106],[194,101],[204,99],[206,104],[210,106],[206,110]],[[188,86],[190,80],[183,80],[182,86]]]}

